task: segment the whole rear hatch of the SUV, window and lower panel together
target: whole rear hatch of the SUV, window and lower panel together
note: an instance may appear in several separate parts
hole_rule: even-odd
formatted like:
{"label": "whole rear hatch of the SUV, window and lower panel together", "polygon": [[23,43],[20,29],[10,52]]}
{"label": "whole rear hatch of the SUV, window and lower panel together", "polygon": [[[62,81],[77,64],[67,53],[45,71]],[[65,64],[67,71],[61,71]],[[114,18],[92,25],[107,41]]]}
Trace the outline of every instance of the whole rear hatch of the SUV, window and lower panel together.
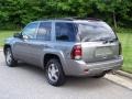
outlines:
{"label": "whole rear hatch of the SUV, window and lower panel together", "polygon": [[78,35],[86,63],[116,59],[119,56],[118,38],[107,23],[79,22]]}

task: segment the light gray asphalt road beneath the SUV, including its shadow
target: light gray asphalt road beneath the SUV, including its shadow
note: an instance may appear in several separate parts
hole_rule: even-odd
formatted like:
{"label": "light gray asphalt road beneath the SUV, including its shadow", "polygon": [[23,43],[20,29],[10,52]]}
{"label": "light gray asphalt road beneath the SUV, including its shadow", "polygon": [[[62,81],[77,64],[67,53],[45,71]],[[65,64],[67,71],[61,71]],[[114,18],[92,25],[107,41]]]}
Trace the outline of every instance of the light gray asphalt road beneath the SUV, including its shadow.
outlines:
{"label": "light gray asphalt road beneath the SUV, including its shadow", "polygon": [[132,90],[106,78],[67,78],[62,87],[46,82],[40,68],[6,66],[0,52],[0,99],[132,99]]}

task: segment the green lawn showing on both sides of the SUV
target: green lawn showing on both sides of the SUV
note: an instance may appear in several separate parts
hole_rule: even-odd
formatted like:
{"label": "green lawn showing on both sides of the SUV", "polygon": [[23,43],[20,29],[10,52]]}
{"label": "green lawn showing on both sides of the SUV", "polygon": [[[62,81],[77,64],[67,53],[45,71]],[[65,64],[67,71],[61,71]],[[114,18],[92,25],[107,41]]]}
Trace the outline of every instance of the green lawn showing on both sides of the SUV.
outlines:
{"label": "green lawn showing on both sides of the SUV", "polygon": [[[0,46],[2,47],[4,38],[12,36],[18,31],[0,31]],[[132,30],[120,29],[118,30],[119,40],[122,43],[122,54],[124,57],[124,64],[122,70],[132,73]]]}

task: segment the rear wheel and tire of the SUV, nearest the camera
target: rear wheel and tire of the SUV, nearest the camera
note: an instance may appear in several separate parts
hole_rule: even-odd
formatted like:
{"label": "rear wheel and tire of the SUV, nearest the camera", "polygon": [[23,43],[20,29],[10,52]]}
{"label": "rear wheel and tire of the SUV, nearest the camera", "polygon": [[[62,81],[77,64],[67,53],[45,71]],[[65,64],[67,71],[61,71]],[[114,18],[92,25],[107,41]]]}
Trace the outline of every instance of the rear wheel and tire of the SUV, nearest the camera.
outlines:
{"label": "rear wheel and tire of the SUV, nearest the camera", "polygon": [[62,64],[58,59],[52,58],[47,62],[45,76],[50,85],[62,86],[65,84],[65,75]]}

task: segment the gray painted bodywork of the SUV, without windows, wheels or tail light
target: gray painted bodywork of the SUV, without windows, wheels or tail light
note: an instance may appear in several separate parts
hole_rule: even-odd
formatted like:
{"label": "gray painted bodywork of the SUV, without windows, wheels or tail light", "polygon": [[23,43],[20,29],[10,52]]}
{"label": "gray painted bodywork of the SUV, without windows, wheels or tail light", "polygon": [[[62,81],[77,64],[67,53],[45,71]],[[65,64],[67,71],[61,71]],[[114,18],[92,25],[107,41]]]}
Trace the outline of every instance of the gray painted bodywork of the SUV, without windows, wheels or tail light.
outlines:
{"label": "gray painted bodywork of the SUV, without windows, wheels or tail light", "polygon": [[[36,22],[40,25],[41,21]],[[72,76],[90,76],[103,70],[117,70],[121,67],[123,58],[119,55],[119,41],[106,44],[103,42],[59,42],[55,40],[56,21],[48,22],[52,22],[51,41],[18,37],[11,37],[6,41],[6,45],[11,45],[14,58],[43,68],[45,54],[54,54],[59,57],[64,73]],[[37,30],[38,26],[36,33]],[[82,58],[80,61],[70,59],[72,50],[77,44],[82,47]],[[103,51],[106,54],[102,56],[102,52],[99,52],[98,48],[103,47],[109,47],[112,54],[109,55],[108,51]],[[96,54],[97,51],[98,54]],[[89,69],[88,73],[84,72],[85,69]]]}

